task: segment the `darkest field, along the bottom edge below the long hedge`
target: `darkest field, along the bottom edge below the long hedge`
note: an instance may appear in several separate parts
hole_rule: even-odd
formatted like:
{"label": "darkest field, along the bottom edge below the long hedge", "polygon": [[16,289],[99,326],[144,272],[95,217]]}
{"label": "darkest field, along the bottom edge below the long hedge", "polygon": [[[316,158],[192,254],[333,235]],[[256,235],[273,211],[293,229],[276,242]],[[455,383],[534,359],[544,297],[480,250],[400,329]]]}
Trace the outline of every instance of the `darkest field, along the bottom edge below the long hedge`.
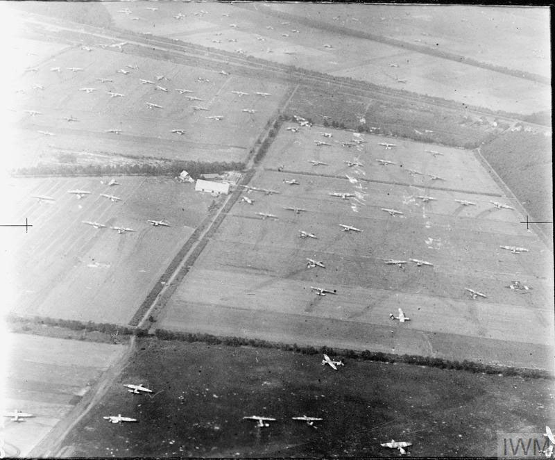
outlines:
{"label": "darkest field, along the bottom edge below the long hedge", "polygon": [[[554,409],[551,381],[543,379],[354,360],[335,372],[320,354],[139,346],[67,436],[62,457],[395,457],[379,445],[391,438],[411,441],[418,457],[489,457],[497,432],[539,432]],[[139,381],[153,397],[122,386]],[[118,413],[138,422],[102,419]],[[314,429],[291,420],[303,414],[323,421]],[[242,420],[252,415],[278,420],[260,430]]]}

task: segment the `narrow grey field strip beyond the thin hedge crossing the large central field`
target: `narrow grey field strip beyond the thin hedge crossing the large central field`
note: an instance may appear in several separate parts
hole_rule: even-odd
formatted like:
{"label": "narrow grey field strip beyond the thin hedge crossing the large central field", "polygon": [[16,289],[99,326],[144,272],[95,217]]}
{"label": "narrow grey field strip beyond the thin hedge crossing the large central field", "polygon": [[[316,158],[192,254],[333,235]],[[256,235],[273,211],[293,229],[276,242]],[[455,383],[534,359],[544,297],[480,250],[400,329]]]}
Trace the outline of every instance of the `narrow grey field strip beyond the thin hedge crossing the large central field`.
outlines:
{"label": "narrow grey field strip beyond the thin hedge crossing the large central field", "polygon": [[[293,125],[286,124],[282,127],[263,163],[264,167],[277,170],[282,165],[284,170],[291,172],[338,176],[342,181],[347,179],[347,174],[366,181],[404,183],[422,189],[422,193],[427,188],[445,188],[497,197],[501,193],[471,151],[378,135],[363,136],[366,142],[355,144],[353,139],[357,138],[349,131],[313,126],[293,133],[287,131],[287,127],[291,126]],[[322,133],[332,133],[332,138],[324,138]],[[329,145],[318,145],[317,142]],[[350,143],[352,147],[343,147],[343,142]],[[380,145],[384,143],[396,147],[386,149]],[[443,156],[434,157],[427,150],[438,150]],[[302,155],[299,155],[299,151],[302,151]],[[380,165],[378,160],[395,164]],[[314,165],[310,161],[327,164]],[[350,167],[345,161],[364,166]],[[440,176],[443,180],[434,180],[430,174]],[[256,186],[264,187],[260,183]]]}

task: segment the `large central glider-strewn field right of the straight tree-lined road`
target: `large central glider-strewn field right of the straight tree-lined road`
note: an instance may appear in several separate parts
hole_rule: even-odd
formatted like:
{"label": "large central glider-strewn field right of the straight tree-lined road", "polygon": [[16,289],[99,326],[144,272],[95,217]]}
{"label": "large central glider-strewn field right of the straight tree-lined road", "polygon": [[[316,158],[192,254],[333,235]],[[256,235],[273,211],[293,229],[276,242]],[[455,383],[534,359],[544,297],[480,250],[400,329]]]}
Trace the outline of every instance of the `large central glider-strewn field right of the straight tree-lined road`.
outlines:
{"label": "large central glider-strewn field right of the straight tree-lined road", "polygon": [[[490,203],[508,199],[473,154],[427,145],[444,154],[434,158],[417,142],[366,135],[357,151],[364,166],[348,167],[342,161],[355,160],[357,147],[330,140],[344,142],[352,133],[326,128],[332,145],[317,147],[314,140],[324,139],[320,129],[291,133],[282,126],[265,169],[249,183],[280,193],[249,192],[252,206],[234,205],[159,327],[552,369],[550,253],[520,223],[523,215]],[[385,150],[379,142],[398,147]],[[378,165],[375,158],[384,156],[398,164]],[[327,165],[311,165],[313,159]],[[407,174],[409,165],[445,180]],[[300,185],[284,183],[291,179]],[[419,196],[434,199],[426,203]],[[345,233],[339,224],[363,232]],[[300,230],[317,239],[298,238]],[[529,252],[511,254],[501,245]],[[325,269],[307,268],[306,258],[323,261]],[[418,267],[410,258],[433,266]],[[407,265],[386,265],[388,259]],[[509,289],[514,279],[533,290]],[[337,295],[317,296],[311,286]],[[487,298],[472,299],[466,288]],[[391,322],[388,313],[398,308],[411,322]]]}

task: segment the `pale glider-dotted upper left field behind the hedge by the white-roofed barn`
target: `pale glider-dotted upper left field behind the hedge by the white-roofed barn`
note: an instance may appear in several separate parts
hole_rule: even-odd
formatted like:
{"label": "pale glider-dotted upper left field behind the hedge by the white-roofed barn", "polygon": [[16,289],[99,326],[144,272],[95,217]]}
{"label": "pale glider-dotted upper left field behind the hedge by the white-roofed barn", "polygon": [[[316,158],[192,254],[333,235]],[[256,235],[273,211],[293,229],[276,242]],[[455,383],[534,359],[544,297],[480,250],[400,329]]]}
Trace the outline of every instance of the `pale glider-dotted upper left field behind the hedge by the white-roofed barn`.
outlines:
{"label": "pale glider-dotted upper left field behind the hedge by the white-roofed barn", "polygon": [[[12,148],[22,154],[10,160],[11,166],[68,152],[245,161],[287,89],[117,48],[89,49],[65,47],[57,54],[46,49],[35,71],[17,78],[6,122]],[[239,98],[234,90],[249,95]],[[256,91],[270,95],[260,97]],[[223,119],[209,118],[214,115]]]}

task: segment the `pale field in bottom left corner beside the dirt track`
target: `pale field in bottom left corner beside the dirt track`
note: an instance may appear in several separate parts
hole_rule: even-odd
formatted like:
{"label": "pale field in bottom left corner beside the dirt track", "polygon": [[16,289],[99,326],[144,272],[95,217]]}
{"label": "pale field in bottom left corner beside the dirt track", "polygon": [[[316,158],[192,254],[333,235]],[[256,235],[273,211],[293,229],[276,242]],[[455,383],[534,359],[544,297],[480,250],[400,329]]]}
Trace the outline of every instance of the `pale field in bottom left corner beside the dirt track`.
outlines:
{"label": "pale field in bottom left corner beside the dirt track", "polygon": [[124,348],[28,334],[3,336],[6,372],[2,409],[33,414],[24,422],[2,419],[8,457],[30,457],[35,445],[74,411]]}

